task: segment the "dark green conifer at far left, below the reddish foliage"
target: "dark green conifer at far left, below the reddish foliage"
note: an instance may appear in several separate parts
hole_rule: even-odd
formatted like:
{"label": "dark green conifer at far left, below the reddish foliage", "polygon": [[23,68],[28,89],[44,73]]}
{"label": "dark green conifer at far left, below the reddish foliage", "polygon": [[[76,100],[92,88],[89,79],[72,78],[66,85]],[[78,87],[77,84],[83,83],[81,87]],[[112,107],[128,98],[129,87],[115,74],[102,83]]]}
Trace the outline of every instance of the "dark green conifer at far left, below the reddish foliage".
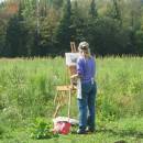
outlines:
{"label": "dark green conifer at far left, below the reddish foliage", "polygon": [[19,6],[19,13],[12,16],[7,28],[6,36],[6,55],[11,57],[26,56],[26,30],[23,25],[23,18],[21,15],[21,6]]}

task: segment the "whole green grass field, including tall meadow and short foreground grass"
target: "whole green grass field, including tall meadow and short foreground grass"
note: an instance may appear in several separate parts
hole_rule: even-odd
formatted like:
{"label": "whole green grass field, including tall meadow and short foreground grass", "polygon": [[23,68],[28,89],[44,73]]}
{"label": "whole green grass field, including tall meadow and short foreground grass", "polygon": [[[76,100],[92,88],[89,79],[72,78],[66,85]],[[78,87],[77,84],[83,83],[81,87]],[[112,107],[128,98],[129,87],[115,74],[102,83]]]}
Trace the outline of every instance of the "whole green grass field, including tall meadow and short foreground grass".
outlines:
{"label": "whole green grass field, including tall meadow and short foreground grass", "polygon": [[[97,58],[97,132],[33,140],[31,124],[52,120],[55,87],[69,82],[65,61],[0,59],[0,143],[143,143],[142,65],[141,57]],[[72,117],[77,118],[75,96]],[[66,112],[65,107],[61,116]]]}

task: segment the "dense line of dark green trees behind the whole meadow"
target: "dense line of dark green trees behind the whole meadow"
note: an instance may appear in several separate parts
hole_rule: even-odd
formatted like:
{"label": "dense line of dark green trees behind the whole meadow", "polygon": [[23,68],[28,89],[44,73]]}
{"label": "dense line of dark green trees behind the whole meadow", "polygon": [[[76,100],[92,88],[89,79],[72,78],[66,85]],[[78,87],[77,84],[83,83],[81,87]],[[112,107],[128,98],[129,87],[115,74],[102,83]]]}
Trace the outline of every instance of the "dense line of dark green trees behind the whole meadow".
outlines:
{"label": "dense line of dark green trees behind the whole meadow", "polygon": [[91,52],[143,55],[143,0],[6,0],[0,3],[0,56],[56,56],[70,42]]}

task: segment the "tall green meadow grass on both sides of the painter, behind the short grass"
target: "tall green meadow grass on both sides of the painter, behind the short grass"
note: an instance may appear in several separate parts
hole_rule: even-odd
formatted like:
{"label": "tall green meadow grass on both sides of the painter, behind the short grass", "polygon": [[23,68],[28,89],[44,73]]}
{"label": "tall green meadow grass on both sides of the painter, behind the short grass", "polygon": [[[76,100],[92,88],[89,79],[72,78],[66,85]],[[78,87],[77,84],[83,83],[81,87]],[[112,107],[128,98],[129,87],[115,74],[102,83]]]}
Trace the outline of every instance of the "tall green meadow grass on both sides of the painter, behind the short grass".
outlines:
{"label": "tall green meadow grass on both sides of the painter, behind the short grass", "polygon": [[[142,65],[140,57],[97,59],[99,121],[143,116]],[[62,57],[1,59],[0,122],[18,128],[28,119],[51,118],[55,110],[55,87],[65,84],[69,84],[69,78]],[[72,112],[77,116],[75,105]]]}

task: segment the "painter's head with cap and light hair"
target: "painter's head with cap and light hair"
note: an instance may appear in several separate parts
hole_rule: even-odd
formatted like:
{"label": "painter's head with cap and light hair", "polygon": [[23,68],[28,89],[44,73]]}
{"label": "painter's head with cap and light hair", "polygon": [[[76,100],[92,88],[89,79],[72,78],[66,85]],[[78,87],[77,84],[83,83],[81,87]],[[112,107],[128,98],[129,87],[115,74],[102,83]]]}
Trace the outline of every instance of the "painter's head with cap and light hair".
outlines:
{"label": "painter's head with cap and light hair", "polygon": [[85,56],[85,57],[90,56],[89,44],[85,41],[79,43],[78,51],[81,54],[81,56]]}

